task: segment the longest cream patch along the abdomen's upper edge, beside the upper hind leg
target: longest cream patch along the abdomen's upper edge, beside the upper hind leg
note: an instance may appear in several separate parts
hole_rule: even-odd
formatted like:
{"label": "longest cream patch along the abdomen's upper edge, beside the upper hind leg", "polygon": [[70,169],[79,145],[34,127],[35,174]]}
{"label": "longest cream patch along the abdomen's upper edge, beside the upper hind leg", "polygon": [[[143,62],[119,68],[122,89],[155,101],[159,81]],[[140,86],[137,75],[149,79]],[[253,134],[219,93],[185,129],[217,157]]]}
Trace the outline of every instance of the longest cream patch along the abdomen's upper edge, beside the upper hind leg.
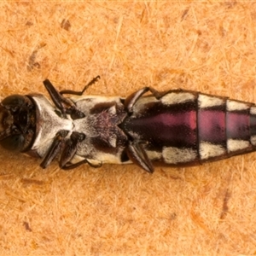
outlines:
{"label": "longest cream patch along the abdomen's upper edge, beside the upper hind leg", "polygon": [[169,92],[160,98],[160,101],[166,105],[178,104],[183,102],[195,101],[195,94],[190,92]]}

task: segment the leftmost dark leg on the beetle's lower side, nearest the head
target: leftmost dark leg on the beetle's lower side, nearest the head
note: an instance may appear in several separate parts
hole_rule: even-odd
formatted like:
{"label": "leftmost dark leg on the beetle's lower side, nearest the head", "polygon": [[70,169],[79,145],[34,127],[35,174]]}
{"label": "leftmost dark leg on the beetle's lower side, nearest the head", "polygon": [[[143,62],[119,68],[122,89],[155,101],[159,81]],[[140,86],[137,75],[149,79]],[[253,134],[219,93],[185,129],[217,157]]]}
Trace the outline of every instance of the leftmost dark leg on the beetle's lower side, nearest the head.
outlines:
{"label": "leftmost dark leg on the beetle's lower side, nearest the head", "polygon": [[68,131],[61,130],[56,134],[54,141],[51,144],[47,154],[44,156],[44,160],[40,164],[42,168],[46,168],[47,166],[49,166],[52,160],[55,159],[56,155],[61,150],[61,144],[64,142],[64,138],[67,136],[67,133]]}

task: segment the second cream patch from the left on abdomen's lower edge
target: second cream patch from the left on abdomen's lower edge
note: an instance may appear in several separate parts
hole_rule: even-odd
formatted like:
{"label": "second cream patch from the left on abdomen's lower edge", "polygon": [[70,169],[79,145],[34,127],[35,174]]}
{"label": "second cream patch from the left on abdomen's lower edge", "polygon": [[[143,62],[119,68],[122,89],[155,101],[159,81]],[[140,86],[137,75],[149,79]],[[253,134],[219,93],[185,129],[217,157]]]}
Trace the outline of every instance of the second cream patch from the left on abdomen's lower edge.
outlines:
{"label": "second cream patch from the left on abdomen's lower edge", "polygon": [[208,142],[201,142],[199,144],[199,154],[201,160],[207,160],[222,154],[226,154],[226,149],[222,145],[214,145]]}

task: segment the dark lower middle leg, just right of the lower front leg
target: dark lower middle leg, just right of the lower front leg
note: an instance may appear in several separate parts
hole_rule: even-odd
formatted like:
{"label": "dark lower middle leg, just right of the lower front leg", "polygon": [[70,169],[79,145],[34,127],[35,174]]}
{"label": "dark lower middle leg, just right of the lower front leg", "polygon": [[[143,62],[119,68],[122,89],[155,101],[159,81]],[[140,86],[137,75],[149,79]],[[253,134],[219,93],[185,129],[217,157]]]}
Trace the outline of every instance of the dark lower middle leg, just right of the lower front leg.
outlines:
{"label": "dark lower middle leg, just right of the lower front leg", "polygon": [[79,133],[77,131],[73,131],[70,138],[65,143],[65,148],[61,153],[60,167],[67,165],[67,162],[73,159],[73,156],[76,154],[78,149],[78,144],[84,141],[85,135],[84,133]]}

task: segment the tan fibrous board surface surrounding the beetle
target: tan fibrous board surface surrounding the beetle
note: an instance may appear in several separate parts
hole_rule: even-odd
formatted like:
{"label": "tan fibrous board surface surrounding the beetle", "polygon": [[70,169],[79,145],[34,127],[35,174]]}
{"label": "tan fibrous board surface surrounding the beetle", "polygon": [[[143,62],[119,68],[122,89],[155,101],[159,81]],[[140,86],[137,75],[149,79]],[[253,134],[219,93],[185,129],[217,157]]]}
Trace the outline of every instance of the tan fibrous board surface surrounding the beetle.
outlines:
{"label": "tan fibrous board surface surrounding the beetle", "polygon": [[[143,86],[256,102],[256,3],[0,2],[0,96]],[[1,149],[0,255],[252,255],[256,154],[64,172]]]}

